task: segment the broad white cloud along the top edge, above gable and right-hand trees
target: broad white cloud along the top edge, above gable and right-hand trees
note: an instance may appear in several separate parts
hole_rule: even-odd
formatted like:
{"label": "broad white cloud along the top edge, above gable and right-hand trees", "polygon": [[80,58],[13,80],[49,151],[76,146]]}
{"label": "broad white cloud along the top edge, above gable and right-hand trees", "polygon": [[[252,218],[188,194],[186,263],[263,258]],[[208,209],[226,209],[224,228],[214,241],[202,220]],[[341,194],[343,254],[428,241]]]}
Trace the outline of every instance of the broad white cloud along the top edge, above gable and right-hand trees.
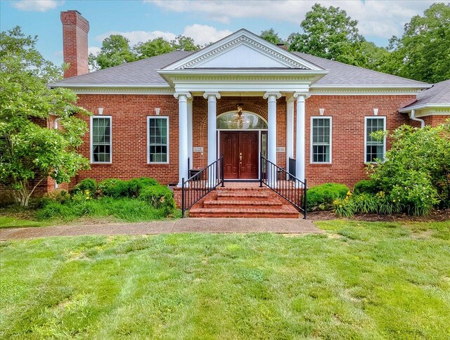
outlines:
{"label": "broad white cloud along the top edge, above gable and right-hand trees", "polygon": [[[275,22],[295,22],[299,24],[305,14],[315,3],[322,6],[339,6],[347,14],[359,21],[359,32],[380,38],[390,38],[393,34],[401,34],[403,26],[413,15],[421,14],[435,1],[433,0],[283,0],[283,1],[219,1],[219,0],[143,0],[144,3],[155,4],[167,11],[178,13],[200,12],[205,17],[218,22],[229,23],[232,19],[264,18]],[[244,26],[244,25],[243,25]],[[268,22],[267,28],[274,27]]]}

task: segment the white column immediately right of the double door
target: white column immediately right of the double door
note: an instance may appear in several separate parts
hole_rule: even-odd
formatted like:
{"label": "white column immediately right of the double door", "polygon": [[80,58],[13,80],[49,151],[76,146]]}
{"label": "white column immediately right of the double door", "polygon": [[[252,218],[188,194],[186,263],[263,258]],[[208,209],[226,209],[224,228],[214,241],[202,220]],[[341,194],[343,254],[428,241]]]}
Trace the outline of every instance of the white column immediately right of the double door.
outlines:
{"label": "white column immediately right of the double door", "polygon": [[[276,100],[281,97],[279,92],[266,92],[264,98],[267,99],[267,159],[276,164]],[[269,184],[276,185],[276,173],[271,172],[272,167],[267,169]],[[272,169],[273,170],[273,169]]]}

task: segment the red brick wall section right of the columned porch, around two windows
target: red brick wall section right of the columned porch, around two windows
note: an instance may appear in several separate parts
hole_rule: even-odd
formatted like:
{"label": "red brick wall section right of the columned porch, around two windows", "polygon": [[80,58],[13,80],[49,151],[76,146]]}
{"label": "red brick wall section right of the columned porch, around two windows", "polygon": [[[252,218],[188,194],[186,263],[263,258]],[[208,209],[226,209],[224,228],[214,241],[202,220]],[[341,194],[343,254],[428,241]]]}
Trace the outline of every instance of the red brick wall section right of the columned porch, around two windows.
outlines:
{"label": "red brick wall section right of the columned porch, around two windows", "polygon": [[[364,117],[386,117],[387,130],[393,131],[401,124],[413,124],[408,115],[399,113],[399,107],[414,96],[311,96],[306,100],[306,176],[309,186],[336,182],[352,186],[366,178],[364,164]],[[332,164],[311,164],[310,124],[312,116],[333,117]],[[418,124],[418,123],[417,123]],[[418,125],[416,125],[418,126]],[[387,138],[387,148],[390,139]]]}

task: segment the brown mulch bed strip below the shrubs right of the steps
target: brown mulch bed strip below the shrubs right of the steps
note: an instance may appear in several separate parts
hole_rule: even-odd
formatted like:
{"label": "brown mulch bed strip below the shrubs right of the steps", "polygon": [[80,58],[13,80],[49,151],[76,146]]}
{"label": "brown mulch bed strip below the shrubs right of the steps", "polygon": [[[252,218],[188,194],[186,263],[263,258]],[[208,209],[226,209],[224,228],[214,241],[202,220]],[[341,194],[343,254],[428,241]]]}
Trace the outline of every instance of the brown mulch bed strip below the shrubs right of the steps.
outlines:
{"label": "brown mulch bed strip below the shrubs right of the steps", "polygon": [[[333,211],[311,211],[307,214],[307,218],[311,221],[328,221],[335,220],[337,217]],[[368,222],[441,222],[450,221],[450,209],[435,210],[428,216],[355,214],[349,219]]]}

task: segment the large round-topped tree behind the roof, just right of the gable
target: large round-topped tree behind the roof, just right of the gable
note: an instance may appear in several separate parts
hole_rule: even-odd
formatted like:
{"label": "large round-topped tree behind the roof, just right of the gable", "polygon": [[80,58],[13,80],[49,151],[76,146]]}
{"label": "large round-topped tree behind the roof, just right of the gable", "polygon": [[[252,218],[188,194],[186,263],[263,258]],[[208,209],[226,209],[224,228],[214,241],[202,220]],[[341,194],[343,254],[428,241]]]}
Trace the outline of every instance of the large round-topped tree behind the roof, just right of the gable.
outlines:
{"label": "large round-topped tree behind the roof, just right of the gable", "polygon": [[350,65],[366,65],[360,51],[360,44],[365,39],[359,34],[357,23],[339,7],[314,4],[300,24],[303,33],[288,37],[289,50]]}

